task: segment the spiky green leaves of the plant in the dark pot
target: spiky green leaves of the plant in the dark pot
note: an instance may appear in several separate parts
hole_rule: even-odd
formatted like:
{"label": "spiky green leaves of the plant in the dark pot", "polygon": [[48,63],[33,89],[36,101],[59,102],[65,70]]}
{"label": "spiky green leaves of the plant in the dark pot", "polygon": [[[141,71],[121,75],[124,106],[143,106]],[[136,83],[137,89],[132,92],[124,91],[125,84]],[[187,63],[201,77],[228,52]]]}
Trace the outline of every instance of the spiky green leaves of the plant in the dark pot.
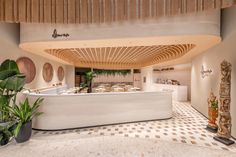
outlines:
{"label": "spiky green leaves of the plant in the dark pot", "polygon": [[23,124],[30,122],[34,117],[37,117],[42,112],[38,112],[38,108],[40,107],[43,99],[38,98],[32,105],[30,105],[28,98],[25,99],[23,103],[20,103],[19,106],[13,105],[6,107],[7,112],[13,115],[17,122],[16,129],[14,130],[15,136],[19,134],[19,131]]}

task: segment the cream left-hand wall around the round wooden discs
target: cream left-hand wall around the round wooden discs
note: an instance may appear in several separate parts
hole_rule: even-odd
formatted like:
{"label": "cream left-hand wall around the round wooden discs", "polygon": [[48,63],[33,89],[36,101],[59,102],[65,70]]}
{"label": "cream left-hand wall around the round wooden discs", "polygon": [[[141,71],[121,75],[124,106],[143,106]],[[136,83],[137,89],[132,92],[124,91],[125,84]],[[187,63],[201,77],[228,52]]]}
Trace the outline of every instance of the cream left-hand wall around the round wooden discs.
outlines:
{"label": "cream left-hand wall around the round wooden discs", "polygon": [[[66,74],[65,66],[58,62],[51,61],[46,58],[36,56],[32,53],[27,53],[21,50],[18,46],[20,39],[19,34],[20,34],[19,24],[0,23],[0,63],[2,63],[5,59],[16,60],[19,57],[23,56],[32,59],[36,66],[36,77],[33,82],[25,86],[26,88],[31,88],[31,89],[44,88],[44,87],[49,87],[52,84],[59,83],[60,81],[58,80],[57,77],[57,69],[59,66],[62,66]],[[46,62],[51,63],[54,69],[53,79],[49,83],[45,82],[42,77],[43,65]],[[65,82],[66,79],[62,81],[63,84],[65,84]]]}

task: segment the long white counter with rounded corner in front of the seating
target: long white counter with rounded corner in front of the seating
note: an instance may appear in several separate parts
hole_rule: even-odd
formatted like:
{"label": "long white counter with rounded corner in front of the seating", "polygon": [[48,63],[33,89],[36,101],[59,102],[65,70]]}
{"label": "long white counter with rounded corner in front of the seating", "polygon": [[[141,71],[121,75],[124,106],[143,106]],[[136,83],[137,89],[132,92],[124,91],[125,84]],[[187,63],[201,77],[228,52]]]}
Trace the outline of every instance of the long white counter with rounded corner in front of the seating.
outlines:
{"label": "long white counter with rounded corner in front of the seating", "polygon": [[27,94],[44,98],[33,128],[60,130],[172,117],[171,92]]}

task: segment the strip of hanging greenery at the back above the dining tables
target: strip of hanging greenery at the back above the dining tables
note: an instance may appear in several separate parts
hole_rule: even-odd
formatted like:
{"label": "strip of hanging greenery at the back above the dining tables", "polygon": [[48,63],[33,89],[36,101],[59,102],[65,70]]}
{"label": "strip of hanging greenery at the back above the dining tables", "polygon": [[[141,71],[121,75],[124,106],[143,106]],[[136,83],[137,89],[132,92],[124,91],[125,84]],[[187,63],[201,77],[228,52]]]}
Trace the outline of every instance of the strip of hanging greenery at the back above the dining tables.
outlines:
{"label": "strip of hanging greenery at the back above the dining tables", "polygon": [[97,75],[128,75],[131,73],[131,70],[106,70],[106,69],[93,69],[94,73]]}

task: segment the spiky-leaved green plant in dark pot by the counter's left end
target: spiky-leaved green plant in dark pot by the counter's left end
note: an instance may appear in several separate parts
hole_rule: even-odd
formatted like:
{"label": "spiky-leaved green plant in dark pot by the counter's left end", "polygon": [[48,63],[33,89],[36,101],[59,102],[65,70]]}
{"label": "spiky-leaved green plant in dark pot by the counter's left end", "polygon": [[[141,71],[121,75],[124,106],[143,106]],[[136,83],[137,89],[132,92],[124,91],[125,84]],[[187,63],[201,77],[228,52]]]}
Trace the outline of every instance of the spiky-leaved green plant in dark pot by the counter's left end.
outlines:
{"label": "spiky-leaved green plant in dark pot by the counter's left end", "polygon": [[32,119],[42,114],[38,112],[43,99],[38,98],[30,105],[28,98],[18,105],[8,106],[7,110],[16,120],[14,135],[16,142],[22,143],[30,139],[32,133]]}

